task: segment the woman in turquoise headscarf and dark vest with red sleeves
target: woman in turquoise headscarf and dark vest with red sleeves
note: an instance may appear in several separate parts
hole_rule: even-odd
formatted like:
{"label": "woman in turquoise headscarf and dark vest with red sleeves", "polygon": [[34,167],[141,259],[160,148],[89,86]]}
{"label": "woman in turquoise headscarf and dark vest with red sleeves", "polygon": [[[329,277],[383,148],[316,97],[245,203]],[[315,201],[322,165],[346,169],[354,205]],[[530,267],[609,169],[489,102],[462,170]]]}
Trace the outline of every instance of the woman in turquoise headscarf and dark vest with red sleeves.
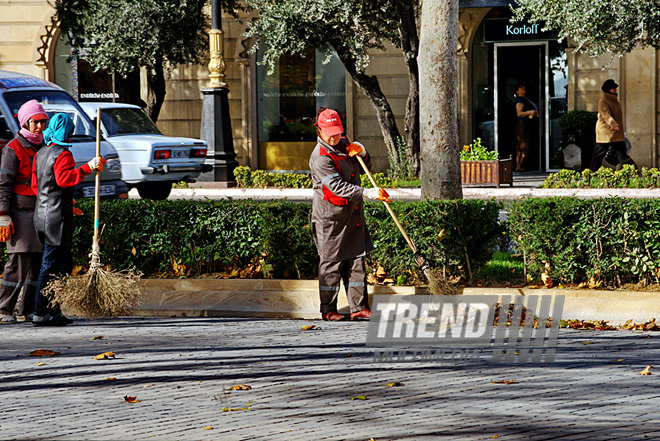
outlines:
{"label": "woman in turquoise headscarf and dark vest with red sleeves", "polygon": [[34,301],[34,326],[73,323],[62,315],[57,304],[49,304],[43,289],[54,277],[73,270],[73,189],[92,171],[103,171],[105,163],[103,158],[95,157],[76,168],[68,142],[73,129],[73,122],[66,114],[54,115],[44,133],[46,147],[37,153],[32,169],[32,188],[37,195],[34,227],[44,244]]}

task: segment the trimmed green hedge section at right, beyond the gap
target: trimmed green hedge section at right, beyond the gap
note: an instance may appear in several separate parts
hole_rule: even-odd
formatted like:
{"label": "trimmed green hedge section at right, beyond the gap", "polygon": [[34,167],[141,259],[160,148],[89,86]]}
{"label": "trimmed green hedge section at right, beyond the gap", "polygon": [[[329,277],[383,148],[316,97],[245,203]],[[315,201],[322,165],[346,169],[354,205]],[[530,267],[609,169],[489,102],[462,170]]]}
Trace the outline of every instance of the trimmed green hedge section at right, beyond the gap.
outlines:
{"label": "trimmed green hedge section at right, beyond the gap", "polygon": [[509,206],[509,233],[530,275],[603,285],[659,283],[660,201],[524,199]]}

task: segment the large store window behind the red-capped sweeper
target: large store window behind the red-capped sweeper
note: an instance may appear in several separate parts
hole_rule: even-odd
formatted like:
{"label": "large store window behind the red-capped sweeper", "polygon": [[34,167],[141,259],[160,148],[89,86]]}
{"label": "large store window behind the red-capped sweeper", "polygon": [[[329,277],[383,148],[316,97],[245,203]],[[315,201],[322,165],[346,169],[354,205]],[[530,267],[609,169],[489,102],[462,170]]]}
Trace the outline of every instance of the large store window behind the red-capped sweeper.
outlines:
{"label": "large store window behind the red-capped sweeper", "polygon": [[335,54],[325,61],[324,54],[310,49],[304,55],[283,55],[271,75],[268,66],[257,64],[260,169],[309,168],[318,107],[337,110],[346,125],[346,71]]}

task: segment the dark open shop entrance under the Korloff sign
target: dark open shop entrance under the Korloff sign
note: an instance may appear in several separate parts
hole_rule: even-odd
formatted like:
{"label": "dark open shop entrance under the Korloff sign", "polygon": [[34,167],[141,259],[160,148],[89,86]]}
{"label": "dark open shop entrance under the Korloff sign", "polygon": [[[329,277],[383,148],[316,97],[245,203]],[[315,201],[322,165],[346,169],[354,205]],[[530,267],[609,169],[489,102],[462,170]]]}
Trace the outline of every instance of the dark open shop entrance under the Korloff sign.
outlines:
{"label": "dark open shop entrance under the Korloff sign", "polygon": [[[539,110],[539,118],[525,121],[528,126],[529,154],[525,171],[546,171],[549,167],[548,43],[496,43],[494,54],[495,149],[500,158],[516,159],[516,89],[527,89],[525,98]],[[516,164],[517,165],[517,164]]]}

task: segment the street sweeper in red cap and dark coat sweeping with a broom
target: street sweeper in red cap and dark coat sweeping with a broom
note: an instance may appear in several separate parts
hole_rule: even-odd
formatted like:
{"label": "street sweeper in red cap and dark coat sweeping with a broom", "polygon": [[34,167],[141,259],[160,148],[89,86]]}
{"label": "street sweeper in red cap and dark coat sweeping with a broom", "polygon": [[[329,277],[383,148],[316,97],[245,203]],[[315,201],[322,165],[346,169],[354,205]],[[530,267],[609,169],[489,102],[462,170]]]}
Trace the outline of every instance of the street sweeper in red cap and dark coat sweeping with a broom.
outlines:
{"label": "street sweeper in red cap and dark coat sweeping with a broom", "polygon": [[320,109],[317,119],[317,144],[309,159],[314,196],[312,234],[320,256],[319,294],[321,317],[343,320],[337,312],[340,282],[348,297],[351,319],[371,317],[367,297],[364,256],[373,243],[364,218],[363,198],[388,200],[379,188],[360,186],[362,169],[359,154],[367,167],[371,156],[359,143],[349,143],[339,114]]}

